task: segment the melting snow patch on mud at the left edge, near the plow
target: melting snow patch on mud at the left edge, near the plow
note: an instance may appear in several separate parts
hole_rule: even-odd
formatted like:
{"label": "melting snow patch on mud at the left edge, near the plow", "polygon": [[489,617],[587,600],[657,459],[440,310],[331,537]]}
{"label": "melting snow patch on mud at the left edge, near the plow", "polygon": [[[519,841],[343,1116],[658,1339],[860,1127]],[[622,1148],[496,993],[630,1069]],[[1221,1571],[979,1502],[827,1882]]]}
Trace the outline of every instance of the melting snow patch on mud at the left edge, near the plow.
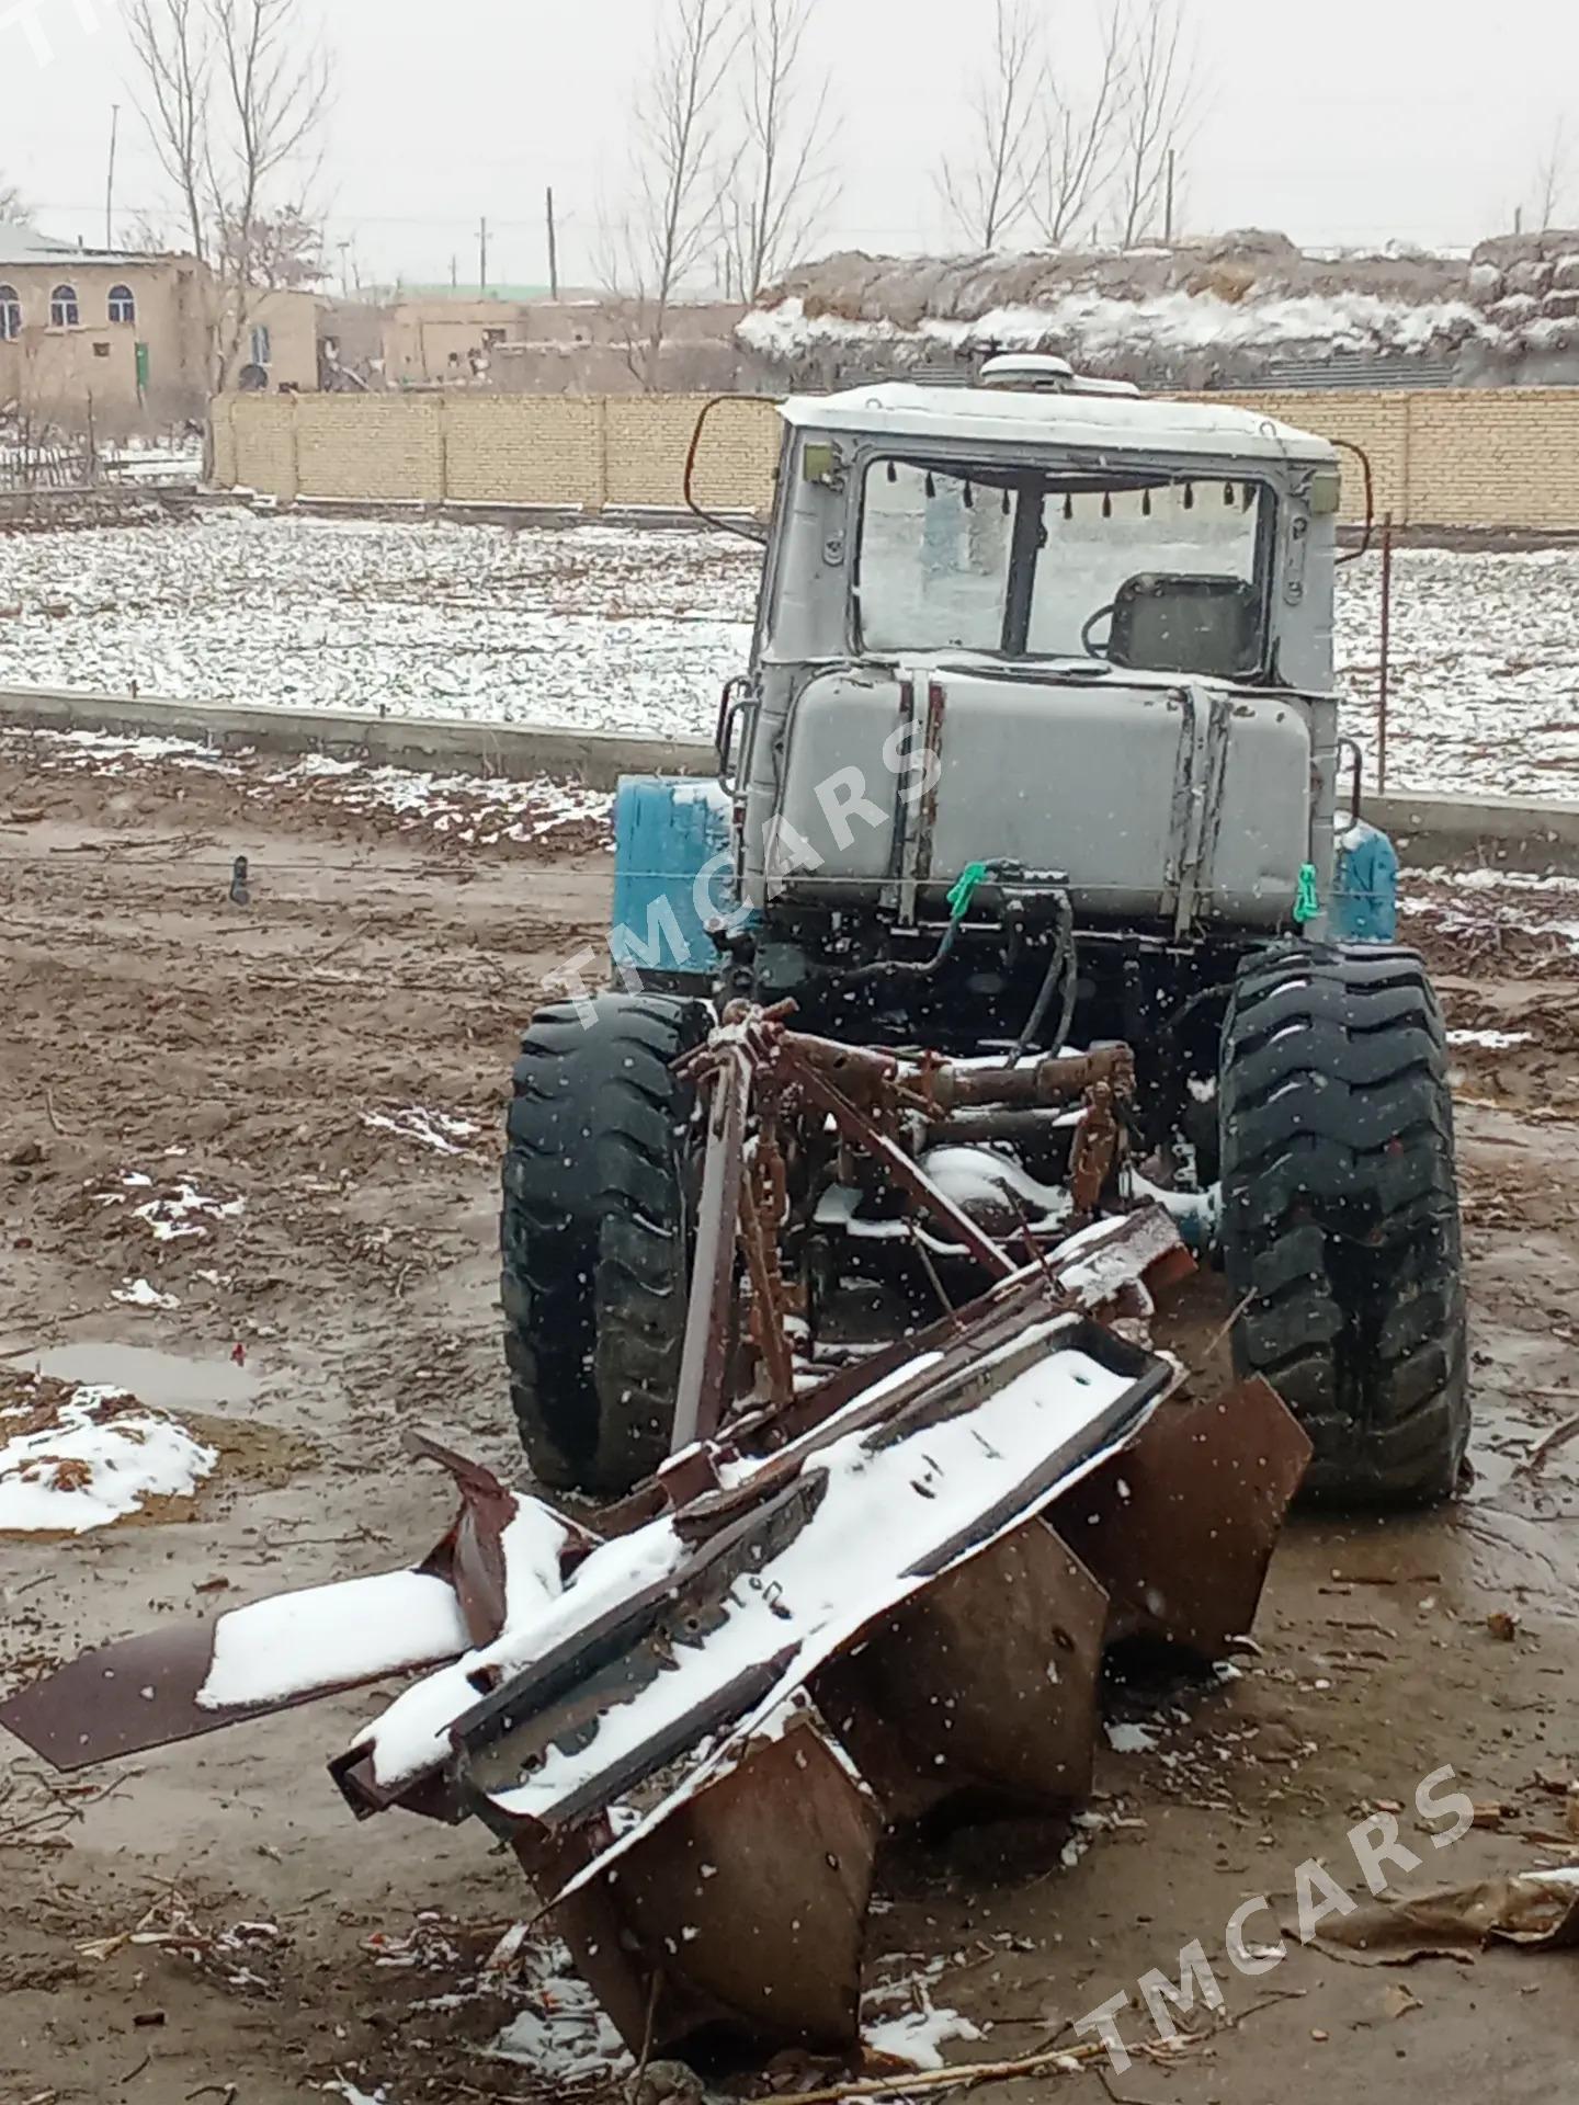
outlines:
{"label": "melting snow patch on mud at the left edge, near the plow", "polygon": [[122,1389],[6,1387],[0,1404],[0,1535],[86,1535],[145,1499],[189,1497],[219,1459]]}

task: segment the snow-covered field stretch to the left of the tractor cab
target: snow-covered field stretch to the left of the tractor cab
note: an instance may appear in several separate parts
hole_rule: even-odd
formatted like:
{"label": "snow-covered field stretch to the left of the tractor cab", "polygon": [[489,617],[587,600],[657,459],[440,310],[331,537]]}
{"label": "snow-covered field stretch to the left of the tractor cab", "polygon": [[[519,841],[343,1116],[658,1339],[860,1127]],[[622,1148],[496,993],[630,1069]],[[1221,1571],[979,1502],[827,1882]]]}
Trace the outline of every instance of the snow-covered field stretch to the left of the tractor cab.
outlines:
{"label": "snow-covered field stretch to the left of the tractor cab", "polygon": [[684,737],[758,552],[716,535],[202,514],[0,539],[0,682]]}

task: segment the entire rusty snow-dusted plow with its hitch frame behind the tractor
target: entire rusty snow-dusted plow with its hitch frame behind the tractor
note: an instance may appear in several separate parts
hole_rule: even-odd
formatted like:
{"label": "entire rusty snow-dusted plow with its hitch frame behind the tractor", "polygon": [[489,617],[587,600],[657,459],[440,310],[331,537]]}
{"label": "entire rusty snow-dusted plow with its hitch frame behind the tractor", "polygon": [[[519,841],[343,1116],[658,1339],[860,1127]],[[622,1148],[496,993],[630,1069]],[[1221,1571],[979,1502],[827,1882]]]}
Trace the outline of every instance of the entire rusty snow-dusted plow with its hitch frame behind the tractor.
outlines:
{"label": "entire rusty snow-dusted plow with its hitch frame behind the tractor", "polygon": [[[914,1082],[891,1055],[749,1010],[691,1059],[707,1158],[678,1452],[653,1480],[594,1532],[417,1436],[461,1509],[413,1570],[109,1646],[0,1722],[76,1768],[408,1669],[331,1762],[358,1817],[503,1838],[638,2052],[699,2031],[842,2050],[882,1833],[1072,1808],[1103,1659],[1213,1661],[1251,1629],[1310,1442],[1263,1381],[1204,1400],[1139,1341],[1192,1259],[1158,1206],[1093,1219],[1122,1048],[1008,1082],[924,1063],[933,1126],[1082,1105],[1074,1212],[998,1231],[884,1130],[882,1095]],[[796,1122],[985,1292],[813,1360],[775,1231]]]}

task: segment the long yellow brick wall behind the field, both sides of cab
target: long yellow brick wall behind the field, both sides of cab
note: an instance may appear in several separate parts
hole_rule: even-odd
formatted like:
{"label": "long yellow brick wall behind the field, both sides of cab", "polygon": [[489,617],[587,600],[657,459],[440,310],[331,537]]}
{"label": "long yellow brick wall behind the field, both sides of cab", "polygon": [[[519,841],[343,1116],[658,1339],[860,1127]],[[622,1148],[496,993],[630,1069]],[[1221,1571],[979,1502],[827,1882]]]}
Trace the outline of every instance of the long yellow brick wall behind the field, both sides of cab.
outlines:
{"label": "long yellow brick wall behind the field, both sides of cab", "polygon": [[[676,507],[701,396],[225,396],[221,484],[282,499]],[[1211,396],[1362,446],[1400,526],[1579,533],[1579,387]],[[766,512],[779,419],[724,402],[697,459],[718,512]],[[1343,455],[1343,516],[1362,516]]]}

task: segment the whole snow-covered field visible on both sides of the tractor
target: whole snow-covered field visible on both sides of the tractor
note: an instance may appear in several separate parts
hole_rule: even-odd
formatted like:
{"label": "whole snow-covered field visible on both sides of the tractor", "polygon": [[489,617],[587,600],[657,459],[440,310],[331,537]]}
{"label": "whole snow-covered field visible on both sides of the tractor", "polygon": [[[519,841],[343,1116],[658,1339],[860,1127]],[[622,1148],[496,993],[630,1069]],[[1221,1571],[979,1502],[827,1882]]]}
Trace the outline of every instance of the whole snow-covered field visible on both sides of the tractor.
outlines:
{"label": "whole snow-covered field visible on both sides of the tractor", "polygon": [[[0,539],[0,682],[697,737],[745,661],[743,541],[255,518]],[[1379,564],[1341,570],[1375,758]],[[1579,554],[1396,558],[1390,787],[1579,798]]]}

